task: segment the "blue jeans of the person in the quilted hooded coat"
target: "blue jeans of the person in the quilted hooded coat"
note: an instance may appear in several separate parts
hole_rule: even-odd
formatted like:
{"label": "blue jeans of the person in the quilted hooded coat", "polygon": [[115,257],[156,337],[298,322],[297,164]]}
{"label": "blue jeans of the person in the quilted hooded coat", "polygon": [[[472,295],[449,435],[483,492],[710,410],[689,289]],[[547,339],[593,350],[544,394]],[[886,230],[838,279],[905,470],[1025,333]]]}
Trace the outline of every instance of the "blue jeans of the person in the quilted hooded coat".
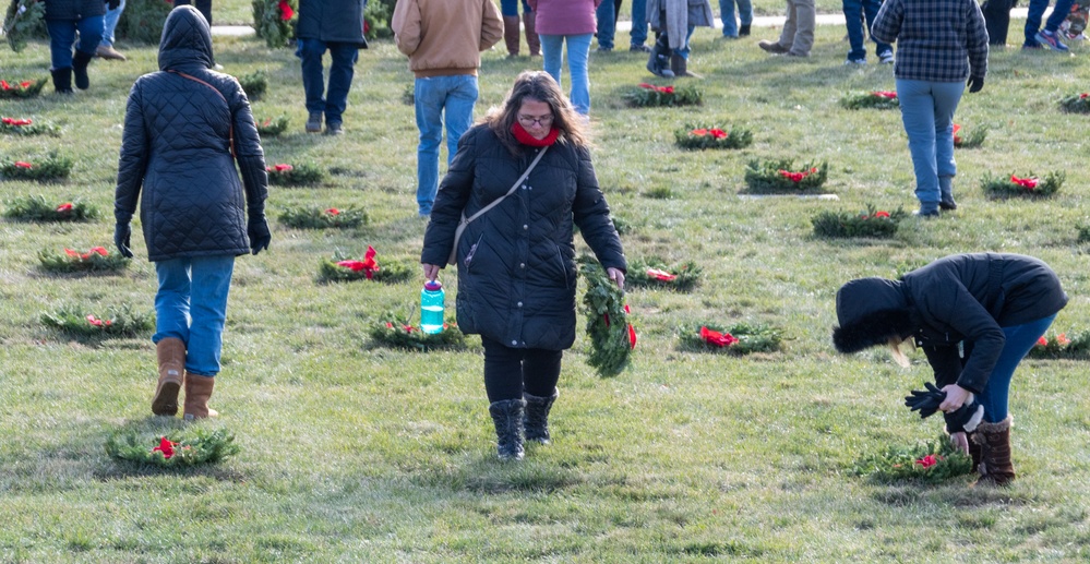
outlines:
{"label": "blue jeans of the person in the quilted hooded coat", "polygon": [[235,256],[193,256],[155,263],[155,335],[185,344],[185,370],[201,376],[219,373],[219,351],[227,323],[227,292]]}

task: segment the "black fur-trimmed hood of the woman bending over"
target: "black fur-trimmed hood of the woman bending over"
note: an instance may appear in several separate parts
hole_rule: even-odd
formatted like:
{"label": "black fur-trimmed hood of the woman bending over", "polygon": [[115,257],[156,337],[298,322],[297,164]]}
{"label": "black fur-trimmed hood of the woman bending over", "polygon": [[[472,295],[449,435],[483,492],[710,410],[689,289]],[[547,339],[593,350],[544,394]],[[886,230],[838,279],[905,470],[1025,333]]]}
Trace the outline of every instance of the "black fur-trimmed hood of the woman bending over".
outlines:
{"label": "black fur-trimmed hood of the woman bending over", "polygon": [[833,345],[845,353],[885,345],[917,329],[902,284],[885,278],[860,278],[841,286],[837,320],[840,326],[833,327]]}

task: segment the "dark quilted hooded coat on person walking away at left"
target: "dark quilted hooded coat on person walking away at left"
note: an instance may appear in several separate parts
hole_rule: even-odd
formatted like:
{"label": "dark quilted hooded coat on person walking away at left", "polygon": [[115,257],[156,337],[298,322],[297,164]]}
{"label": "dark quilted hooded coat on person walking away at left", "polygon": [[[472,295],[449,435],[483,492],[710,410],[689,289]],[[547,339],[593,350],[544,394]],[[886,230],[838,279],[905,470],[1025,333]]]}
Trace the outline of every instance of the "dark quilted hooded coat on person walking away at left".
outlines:
{"label": "dark quilted hooded coat on person walking away at left", "polygon": [[163,29],[160,71],[129,93],[113,215],[128,224],[140,199],[151,261],[245,254],[247,212],[264,216],[268,178],[250,103],[212,61],[208,24],[180,5]]}

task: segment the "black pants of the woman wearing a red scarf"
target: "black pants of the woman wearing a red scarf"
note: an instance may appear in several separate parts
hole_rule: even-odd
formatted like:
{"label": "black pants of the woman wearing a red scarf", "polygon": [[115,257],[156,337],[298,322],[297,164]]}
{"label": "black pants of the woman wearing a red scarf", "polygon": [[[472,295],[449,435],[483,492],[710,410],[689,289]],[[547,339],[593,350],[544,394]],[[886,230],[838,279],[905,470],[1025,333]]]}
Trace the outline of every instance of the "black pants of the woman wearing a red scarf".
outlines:
{"label": "black pants of the woman wearing a red scarf", "polygon": [[484,345],[484,391],[489,403],[520,399],[523,391],[549,397],[556,388],[564,351],[515,349],[483,336],[481,344]]}

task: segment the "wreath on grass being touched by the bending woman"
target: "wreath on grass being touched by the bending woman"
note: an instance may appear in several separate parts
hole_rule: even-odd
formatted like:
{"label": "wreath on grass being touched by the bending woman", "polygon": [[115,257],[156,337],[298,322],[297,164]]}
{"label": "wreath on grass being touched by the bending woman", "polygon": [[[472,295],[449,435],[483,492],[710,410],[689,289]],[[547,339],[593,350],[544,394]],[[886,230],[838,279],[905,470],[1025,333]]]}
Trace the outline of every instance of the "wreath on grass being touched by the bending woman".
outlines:
{"label": "wreath on grass being touched by the bending woman", "polygon": [[882,483],[939,483],[973,472],[972,459],[954,448],[948,436],[913,446],[886,446],[858,460],[855,476]]}

